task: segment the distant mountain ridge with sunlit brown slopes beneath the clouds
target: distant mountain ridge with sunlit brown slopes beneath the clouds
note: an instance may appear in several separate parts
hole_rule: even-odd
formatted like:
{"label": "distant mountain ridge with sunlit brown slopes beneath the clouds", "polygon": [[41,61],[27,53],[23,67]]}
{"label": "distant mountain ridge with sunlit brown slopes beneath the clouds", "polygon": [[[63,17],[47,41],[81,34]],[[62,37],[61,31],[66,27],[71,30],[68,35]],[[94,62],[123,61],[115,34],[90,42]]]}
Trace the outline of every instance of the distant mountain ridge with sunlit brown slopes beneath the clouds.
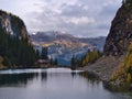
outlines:
{"label": "distant mountain ridge with sunlit brown slopes beneath the clouds", "polygon": [[48,31],[48,32],[37,32],[31,34],[31,38],[34,44],[41,44],[43,46],[59,44],[65,45],[68,48],[72,47],[88,47],[88,48],[98,48],[103,51],[103,45],[106,42],[105,36],[100,37],[75,37],[68,33],[62,33],[58,31]]}

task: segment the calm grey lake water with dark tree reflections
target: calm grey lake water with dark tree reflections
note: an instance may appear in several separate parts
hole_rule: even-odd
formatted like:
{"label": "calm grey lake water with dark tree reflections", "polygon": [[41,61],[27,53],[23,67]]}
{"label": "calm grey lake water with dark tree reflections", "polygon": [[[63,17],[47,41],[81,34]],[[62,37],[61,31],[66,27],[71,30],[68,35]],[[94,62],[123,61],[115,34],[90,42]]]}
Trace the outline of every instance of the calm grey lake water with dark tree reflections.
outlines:
{"label": "calm grey lake water with dark tree reflections", "polygon": [[131,92],[112,92],[102,81],[68,68],[0,72],[0,99],[132,99]]}

